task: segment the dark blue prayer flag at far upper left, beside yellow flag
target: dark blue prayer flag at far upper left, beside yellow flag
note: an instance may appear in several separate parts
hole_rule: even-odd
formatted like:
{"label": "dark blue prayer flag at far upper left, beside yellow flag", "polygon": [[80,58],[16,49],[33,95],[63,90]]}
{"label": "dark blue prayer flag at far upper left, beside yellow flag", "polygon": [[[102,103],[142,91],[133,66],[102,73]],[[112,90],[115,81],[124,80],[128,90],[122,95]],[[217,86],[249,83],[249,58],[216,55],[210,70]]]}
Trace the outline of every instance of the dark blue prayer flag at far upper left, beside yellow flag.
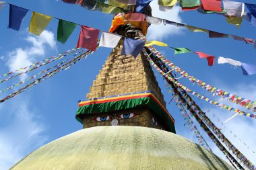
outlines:
{"label": "dark blue prayer flag at far upper left, beside yellow flag", "polygon": [[16,31],[20,30],[20,25],[22,24],[22,20],[24,19],[27,12],[28,9],[10,4],[8,28]]}

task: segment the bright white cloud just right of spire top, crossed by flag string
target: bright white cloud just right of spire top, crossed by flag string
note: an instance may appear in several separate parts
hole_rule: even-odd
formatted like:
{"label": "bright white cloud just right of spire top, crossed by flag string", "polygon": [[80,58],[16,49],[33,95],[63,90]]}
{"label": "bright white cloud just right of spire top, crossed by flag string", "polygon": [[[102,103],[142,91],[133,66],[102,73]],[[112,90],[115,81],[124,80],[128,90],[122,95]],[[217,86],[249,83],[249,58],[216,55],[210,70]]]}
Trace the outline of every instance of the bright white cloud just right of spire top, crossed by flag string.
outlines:
{"label": "bright white cloud just right of spire top, crossed by flag string", "polygon": [[[181,16],[179,15],[181,11],[181,7],[175,6],[168,12],[163,12],[159,10],[158,1],[152,1],[150,3],[150,6],[152,7],[152,15],[154,17],[159,17],[162,19],[167,19],[172,22],[182,22]],[[148,39],[149,40],[164,40],[170,36],[173,35],[181,35],[183,34],[183,28],[177,27],[177,26],[171,26],[163,24],[160,25],[154,25],[152,24],[148,28]]]}

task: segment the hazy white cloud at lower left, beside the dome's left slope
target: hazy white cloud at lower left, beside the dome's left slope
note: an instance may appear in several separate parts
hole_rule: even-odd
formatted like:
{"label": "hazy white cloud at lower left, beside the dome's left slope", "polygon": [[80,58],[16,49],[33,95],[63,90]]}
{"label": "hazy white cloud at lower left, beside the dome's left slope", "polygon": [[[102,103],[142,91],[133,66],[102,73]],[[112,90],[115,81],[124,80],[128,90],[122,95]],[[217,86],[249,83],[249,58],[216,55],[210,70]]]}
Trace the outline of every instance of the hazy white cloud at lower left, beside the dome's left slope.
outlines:
{"label": "hazy white cloud at lower left, beside the dome's left slope", "polygon": [[[32,111],[26,100],[17,101],[18,105],[2,107],[1,112],[8,110],[11,121],[0,130],[0,167],[9,169],[16,162],[44,144],[48,137],[42,118],[36,117],[38,112]],[[9,108],[11,107],[11,108]],[[2,115],[3,116],[3,115]],[[3,123],[3,122],[2,122]]]}

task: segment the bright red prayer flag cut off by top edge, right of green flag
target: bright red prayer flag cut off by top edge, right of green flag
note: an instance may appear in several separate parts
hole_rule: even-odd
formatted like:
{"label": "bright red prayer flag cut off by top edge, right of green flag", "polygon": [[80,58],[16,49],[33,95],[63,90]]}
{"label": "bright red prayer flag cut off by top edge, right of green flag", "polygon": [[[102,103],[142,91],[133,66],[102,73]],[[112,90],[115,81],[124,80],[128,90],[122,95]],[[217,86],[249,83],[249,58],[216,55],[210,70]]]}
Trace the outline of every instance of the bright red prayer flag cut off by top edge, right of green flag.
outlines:
{"label": "bright red prayer flag cut off by top edge, right of green flag", "polygon": [[221,0],[201,0],[202,9],[206,11],[220,11],[222,12]]}

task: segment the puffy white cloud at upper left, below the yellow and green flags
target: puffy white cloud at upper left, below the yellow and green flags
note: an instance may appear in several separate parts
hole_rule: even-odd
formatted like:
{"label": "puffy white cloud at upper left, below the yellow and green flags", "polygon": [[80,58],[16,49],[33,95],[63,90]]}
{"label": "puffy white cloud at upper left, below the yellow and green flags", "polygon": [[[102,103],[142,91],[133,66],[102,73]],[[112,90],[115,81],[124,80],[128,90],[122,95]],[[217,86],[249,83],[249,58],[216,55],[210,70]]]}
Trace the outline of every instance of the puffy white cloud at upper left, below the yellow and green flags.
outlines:
{"label": "puffy white cloud at upper left, below the yellow and green flags", "polygon": [[[16,48],[7,55],[7,67],[10,71],[32,65],[40,56],[45,55],[48,46],[56,49],[55,36],[53,32],[47,30],[44,30],[39,37],[30,34],[25,40],[31,45],[26,48]],[[27,75],[23,74],[20,78],[23,80],[26,77]]]}

